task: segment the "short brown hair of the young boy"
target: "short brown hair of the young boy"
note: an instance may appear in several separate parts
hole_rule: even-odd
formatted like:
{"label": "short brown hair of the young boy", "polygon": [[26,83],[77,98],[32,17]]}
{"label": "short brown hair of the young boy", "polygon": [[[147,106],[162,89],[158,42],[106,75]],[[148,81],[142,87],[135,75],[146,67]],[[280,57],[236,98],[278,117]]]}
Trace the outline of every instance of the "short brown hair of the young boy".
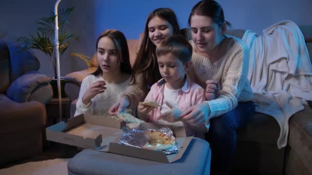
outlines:
{"label": "short brown hair of the young boy", "polygon": [[156,48],[157,57],[171,53],[178,57],[183,64],[191,60],[192,52],[193,49],[190,43],[179,34],[167,37]]}

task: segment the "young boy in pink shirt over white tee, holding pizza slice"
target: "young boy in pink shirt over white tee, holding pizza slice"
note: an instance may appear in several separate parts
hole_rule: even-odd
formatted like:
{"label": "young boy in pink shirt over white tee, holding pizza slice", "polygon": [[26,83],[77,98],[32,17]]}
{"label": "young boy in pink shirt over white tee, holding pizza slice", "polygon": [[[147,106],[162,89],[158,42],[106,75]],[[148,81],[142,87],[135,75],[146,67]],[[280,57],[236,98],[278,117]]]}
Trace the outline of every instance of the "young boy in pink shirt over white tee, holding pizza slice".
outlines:
{"label": "young boy in pink shirt over white tee, holding pizza slice", "polygon": [[156,49],[159,71],[163,77],[151,86],[145,101],[155,101],[160,107],[138,105],[138,116],[146,122],[185,126],[187,136],[204,139],[209,125],[193,127],[180,118],[182,111],[205,101],[205,90],[187,76],[192,62],[192,47],[181,35],[162,41]]}

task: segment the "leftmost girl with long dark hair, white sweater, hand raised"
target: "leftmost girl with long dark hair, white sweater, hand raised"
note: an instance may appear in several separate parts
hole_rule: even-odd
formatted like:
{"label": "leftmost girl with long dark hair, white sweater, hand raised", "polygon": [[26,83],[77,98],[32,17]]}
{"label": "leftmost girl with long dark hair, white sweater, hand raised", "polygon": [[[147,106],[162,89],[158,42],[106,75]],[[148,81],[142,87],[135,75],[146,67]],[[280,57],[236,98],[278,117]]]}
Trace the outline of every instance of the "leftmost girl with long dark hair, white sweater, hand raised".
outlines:
{"label": "leftmost girl with long dark hair, white sweater, hand raised", "polygon": [[84,78],[75,115],[105,115],[131,82],[129,50],[124,34],[107,30],[96,41],[99,67]]}

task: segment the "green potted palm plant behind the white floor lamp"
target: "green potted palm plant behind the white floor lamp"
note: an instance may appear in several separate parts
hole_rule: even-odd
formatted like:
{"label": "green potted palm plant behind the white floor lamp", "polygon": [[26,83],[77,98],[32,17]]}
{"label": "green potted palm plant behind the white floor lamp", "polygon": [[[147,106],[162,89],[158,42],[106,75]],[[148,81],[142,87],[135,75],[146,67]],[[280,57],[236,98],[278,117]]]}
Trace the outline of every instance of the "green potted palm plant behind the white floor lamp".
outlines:
{"label": "green potted palm plant behind the white floor lamp", "polygon": [[[71,40],[78,40],[79,37],[70,32],[67,27],[68,20],[66,17],[72,12],[73,8],[60,9],[59,15],[59,52],[60,52],[60,61],[62,54],[68,49],[69,43]],[[54,24],[55,24],[55,15],[53,12],[50,12],[49,17],[43,17],[36,21],[38,25],[36,32],[29,34],[27,37],[17,38],[17,42],[21,43],[23,50],[27,49],[37,49],[42,51],[51,61],[51,67],[54,71],[54,80],[52,79],[51,85],[53,87],[54,98],[57,97],[57,74],[56,74],[56,56],[55,56],[55,46],[54,46]],[[81,58],[86,62],[88,67],[90,66],[90,60],[88,56],[85,56],[80,53],[71,53],[71,56]],[[61,81],[62,87],[62,97],[65,97],[64,93],[65,82]]]}

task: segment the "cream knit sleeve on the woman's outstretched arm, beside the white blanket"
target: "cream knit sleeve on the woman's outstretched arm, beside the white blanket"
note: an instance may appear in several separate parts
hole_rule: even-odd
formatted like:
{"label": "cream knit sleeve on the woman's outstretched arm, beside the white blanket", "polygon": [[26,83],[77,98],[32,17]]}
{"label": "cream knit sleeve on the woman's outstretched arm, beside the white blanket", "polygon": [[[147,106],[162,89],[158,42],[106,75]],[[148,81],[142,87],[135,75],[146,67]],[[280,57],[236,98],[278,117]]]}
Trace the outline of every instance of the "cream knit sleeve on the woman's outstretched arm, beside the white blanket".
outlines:
{"label": "cream knit sleeve on the woman's outstretched arm, beside the white blanket", "polygon": [[224,60],[226,63],[221,75],[220,96],[214,100],[205,101],[210,107],[209,118],[221,116],[237,106],[238,99],[246,85],[248,55],[248,48],[243,41],[236,41],[226,54]]}

